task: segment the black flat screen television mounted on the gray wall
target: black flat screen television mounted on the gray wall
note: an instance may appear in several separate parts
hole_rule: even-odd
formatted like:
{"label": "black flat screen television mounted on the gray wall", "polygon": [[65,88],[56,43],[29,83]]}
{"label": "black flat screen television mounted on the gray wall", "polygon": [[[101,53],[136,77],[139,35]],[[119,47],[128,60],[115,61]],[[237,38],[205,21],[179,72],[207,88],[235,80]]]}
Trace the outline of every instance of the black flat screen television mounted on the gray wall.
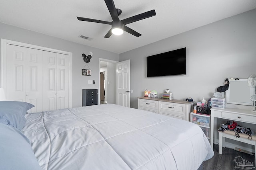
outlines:
{"label": "black flat screen television mounted on the gray wall", "polygon": [[186,47],[147,57],[147,77],[186,74]]}

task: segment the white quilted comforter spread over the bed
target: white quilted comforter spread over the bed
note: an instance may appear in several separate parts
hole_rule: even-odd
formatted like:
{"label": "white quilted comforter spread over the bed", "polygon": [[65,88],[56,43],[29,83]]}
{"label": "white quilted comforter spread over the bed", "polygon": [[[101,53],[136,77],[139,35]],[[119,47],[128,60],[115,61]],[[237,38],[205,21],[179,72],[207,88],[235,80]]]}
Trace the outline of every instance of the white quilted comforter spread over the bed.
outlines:
{"label": "white quilted comforter spread over the bed", "polygon": [[214,155],[198,125],[103,104],[26,115],[43,170],[196,170]]}

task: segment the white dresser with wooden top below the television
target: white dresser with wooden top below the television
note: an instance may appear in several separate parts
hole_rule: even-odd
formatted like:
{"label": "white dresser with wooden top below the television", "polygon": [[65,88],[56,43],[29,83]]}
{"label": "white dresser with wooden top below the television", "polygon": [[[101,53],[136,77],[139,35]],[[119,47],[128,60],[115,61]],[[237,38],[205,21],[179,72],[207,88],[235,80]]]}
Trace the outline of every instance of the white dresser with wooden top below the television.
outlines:
{"label": "white dresser with wooden top below the television", "polygon": [[138,98],[138,109],[189,121],[193,102],[160,98]]}

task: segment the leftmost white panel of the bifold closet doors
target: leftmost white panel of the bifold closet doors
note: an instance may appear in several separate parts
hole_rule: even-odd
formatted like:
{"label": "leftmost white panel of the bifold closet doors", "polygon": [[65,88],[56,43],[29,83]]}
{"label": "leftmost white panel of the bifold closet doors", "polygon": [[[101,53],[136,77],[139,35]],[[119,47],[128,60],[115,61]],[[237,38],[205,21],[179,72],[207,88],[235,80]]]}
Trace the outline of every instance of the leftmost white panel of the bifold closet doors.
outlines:
{"label": "leftmost white panel of the bifold closet doors", "polygon": [[26,102],[26,48],[7,44],[6,100]]}

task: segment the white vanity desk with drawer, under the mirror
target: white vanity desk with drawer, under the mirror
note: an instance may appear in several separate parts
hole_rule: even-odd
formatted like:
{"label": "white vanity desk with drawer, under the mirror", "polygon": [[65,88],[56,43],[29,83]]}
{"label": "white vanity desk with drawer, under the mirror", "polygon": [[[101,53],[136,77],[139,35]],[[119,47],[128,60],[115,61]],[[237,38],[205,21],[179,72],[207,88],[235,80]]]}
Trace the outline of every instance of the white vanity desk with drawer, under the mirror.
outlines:
{"label": "white vanity desk with drawer, under the mirror", "polygon": [[[216,145],[218,132],[217,118],[228,119],[230,121],[240,121],[245,123],[256,124],[256,113],[251,110],[235,109],[235,108],[211,108],[211,137],[210,143],[213,148],[213,142]],[[239,138],[238,138],[239,139]]]}

